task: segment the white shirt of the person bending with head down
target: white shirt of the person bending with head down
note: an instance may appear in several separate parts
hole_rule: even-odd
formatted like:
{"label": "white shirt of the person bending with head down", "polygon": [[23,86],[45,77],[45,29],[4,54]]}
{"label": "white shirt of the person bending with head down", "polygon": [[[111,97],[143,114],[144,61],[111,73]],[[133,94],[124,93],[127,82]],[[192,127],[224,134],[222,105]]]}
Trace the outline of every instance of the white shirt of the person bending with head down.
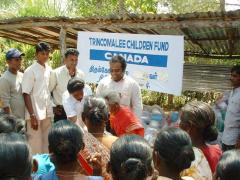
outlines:
{"label": "white shirt of the person bending with head down", "polygon": [[83,112],[84,99],[87,96],[92,95],[92,90],[89,85],[85,84],[83,93],[84,93],[84,95],[83,95],[83,99],[81,101],[76,100],[71,94],[68,93],[68,91],[65,91],[63,93],[62,104],[63,104],[63,108],[66,112],[67,117],[77,116],[78,119],[79,118],[81,119],[82,112]]}

